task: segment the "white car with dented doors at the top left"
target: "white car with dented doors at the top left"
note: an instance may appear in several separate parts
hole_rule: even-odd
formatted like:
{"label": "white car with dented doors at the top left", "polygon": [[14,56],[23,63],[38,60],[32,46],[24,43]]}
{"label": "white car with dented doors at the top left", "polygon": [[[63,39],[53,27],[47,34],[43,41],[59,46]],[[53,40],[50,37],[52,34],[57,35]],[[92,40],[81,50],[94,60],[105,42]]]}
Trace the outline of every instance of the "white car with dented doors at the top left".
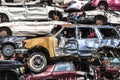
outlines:
{"label": "white car with dented doors at the top left", "polygon": [[40,0],[1,0],[0,15],[2,22],[15,20],[53,20],[67,16],[64,9],[40,3]]}

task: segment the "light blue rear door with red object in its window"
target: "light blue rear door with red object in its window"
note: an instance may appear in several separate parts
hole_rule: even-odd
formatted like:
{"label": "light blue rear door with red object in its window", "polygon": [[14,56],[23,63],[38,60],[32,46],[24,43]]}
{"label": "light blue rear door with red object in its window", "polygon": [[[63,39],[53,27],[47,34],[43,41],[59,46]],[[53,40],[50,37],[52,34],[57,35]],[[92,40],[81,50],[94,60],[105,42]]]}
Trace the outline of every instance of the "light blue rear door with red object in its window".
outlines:
{"label": "light blue rear door with red object in its window", "polygon": [[99,36],[94,28],[80,27],[79,28],[78,45],[80,53],[89,53],[94,51],[99,46]]}

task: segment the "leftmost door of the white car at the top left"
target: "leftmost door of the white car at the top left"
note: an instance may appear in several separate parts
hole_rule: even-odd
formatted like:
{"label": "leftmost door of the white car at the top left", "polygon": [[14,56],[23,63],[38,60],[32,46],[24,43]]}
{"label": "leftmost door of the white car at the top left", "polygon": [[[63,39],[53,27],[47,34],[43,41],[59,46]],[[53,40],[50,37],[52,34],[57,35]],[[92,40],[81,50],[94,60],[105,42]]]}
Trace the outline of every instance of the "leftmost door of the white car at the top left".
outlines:
{"label": "leftmost door of the white car at the top left", "polygon": [[15,2],[14,0],[5,0],[5,5],[1,7],[1,13],[5,13],[9,20],[25,20],[26,13],[23,2]]}

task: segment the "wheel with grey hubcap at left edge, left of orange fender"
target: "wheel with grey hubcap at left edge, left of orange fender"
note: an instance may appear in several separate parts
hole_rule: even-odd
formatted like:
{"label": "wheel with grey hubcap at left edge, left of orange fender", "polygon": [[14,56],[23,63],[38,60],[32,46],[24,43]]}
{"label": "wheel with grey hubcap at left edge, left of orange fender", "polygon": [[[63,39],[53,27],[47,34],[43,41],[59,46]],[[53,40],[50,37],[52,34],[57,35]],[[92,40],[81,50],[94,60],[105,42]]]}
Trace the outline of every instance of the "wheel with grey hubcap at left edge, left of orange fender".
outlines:
{"label": "wheel with grey hubcap at left edge, left of orange fender", "polygon": [[5,56],[5,57],[10,57],[14,54],[14,47],[12,45],[5,45],[2,49],[2,54]]}

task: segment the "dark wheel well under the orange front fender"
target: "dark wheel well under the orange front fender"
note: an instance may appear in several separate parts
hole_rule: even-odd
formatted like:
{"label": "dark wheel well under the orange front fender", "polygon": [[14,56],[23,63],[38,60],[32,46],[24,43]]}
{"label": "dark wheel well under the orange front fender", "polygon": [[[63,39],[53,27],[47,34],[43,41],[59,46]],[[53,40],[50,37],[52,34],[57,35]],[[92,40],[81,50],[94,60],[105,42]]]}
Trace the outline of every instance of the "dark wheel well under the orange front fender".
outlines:
{"label": "dark wheel well under the orange front fender", "polygon": [[32,48],[32,49],[30,49],[29,51],[28,51],[28,53],[33,53],[33,52],[36,52],[36,51],[41,51],[41,52],[43,52],[44,54],[45,54],[45,57],[47,58],[47,60],[49,61],[50,60],[50,55],[49,55],[49,51],[46,49],[46,48],[44,48],[44,47],[34,47],[34,48]]}

